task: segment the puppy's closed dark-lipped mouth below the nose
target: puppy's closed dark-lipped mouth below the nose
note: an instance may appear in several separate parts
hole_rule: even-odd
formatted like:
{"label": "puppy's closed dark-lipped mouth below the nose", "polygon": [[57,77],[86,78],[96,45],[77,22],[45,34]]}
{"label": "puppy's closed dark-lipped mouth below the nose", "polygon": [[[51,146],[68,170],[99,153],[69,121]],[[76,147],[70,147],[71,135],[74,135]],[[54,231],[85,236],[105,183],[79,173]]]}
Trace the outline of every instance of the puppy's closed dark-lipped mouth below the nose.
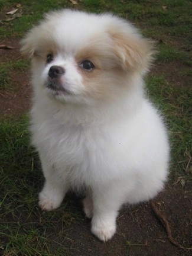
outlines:
{"label": "puppy's closed dark-lipped mouth below the nose", "polygon": [[52,96],[57,96],[57,95],[72,95],[71,91],[68,89],[64,88],[63,85],[61,85],[60,82],[55,81],[54,79],[51,79],[47,82],[45,82],[45,87],[48,89],[48,92]]}

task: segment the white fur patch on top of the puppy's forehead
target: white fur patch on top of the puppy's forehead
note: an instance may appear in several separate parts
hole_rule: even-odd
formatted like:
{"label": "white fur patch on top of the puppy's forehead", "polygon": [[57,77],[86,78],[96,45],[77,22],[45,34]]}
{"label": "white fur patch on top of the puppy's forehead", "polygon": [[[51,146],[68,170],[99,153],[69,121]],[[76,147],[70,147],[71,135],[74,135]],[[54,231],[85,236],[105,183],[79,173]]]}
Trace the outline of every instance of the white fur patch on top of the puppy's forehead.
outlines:
{"label": "white fur patch on top of the puppy's forehead", "polygon": [[79,50],[99,37],[105,41],[111,21],[109,15],[65,11],[48,16],[43,28],[47,31],[46,37],[54,40],[59,49],[70,51]]}

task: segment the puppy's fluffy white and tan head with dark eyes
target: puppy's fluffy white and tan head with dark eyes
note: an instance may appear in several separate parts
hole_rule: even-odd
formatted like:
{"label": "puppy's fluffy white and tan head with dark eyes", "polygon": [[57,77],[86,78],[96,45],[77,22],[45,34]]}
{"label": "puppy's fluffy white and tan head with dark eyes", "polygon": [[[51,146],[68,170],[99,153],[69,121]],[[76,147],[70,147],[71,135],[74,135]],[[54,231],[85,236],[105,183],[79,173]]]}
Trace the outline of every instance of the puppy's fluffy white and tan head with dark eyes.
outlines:
{"label": "puppy's fluffy white and tan head with dark eyes", "polygon": [[21,41],[32,59],[32,84],[59,101],[114,98],[148,71],[153,45],[110,14],[51,12]]}

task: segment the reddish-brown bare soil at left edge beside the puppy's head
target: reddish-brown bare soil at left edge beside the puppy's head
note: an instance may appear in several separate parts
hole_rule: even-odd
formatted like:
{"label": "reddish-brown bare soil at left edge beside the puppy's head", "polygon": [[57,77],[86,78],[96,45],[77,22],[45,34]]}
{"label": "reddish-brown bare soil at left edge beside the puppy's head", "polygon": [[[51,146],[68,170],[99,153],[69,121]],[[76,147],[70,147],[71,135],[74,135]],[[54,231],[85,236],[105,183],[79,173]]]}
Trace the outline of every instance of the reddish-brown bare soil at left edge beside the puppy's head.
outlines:
{"label": "reddish-brown bare soil at left edge beside the puppy's head", "polygon": [[[6,40],[1,45],[11,46],[13,49],[0,49],[1,63],[9,60],[22,60],[19,53],[19,44],[17,40]],[[28,73],[11,71],[10,84],[8,89],[0,89],[0,118],[6,115],[19,116],[24,114],[30,108],[31,87]]]}

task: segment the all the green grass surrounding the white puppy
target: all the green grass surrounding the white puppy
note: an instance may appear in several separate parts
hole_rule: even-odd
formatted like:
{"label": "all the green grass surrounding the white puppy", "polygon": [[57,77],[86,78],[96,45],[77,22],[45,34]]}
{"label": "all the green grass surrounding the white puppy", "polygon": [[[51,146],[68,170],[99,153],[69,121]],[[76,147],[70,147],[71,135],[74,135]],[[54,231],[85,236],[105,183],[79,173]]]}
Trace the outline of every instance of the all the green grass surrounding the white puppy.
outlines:
{"label": "all the green grass surrounding the white puppy", "polygon": [[[0,0],[0,41],[9,37],[20,40],[32,24],[37,24],[43,12],[61,7],[114,12],[131,20],[145,36],[157,41],[157,67],[160,70],[156,68],[146,81],[148,95],[162,111],[170,133],[170,183],[177,181],[178,177],[190,180],[191,1],[78,2],[79,5],[73,6],[70,1],[24,0],[19,7],[22,17],[6,22],[5,13],[15,8],[15,1]],[[12,73],[25,72],[28,68],[27,60],[1,60],[0,95],[4,90],[14,88]],[[184,85],[175,85],[175,81]],[[43,184],[43,177],[37,153],[30,146],[27,127],[27,116],[19,119],[6,116],[0,123],[0,255],[74,255],[69,227],[71,223],[81,223],[83,214],[69,198],[55,212],[42,213],[38,209],[37,193]]]}

